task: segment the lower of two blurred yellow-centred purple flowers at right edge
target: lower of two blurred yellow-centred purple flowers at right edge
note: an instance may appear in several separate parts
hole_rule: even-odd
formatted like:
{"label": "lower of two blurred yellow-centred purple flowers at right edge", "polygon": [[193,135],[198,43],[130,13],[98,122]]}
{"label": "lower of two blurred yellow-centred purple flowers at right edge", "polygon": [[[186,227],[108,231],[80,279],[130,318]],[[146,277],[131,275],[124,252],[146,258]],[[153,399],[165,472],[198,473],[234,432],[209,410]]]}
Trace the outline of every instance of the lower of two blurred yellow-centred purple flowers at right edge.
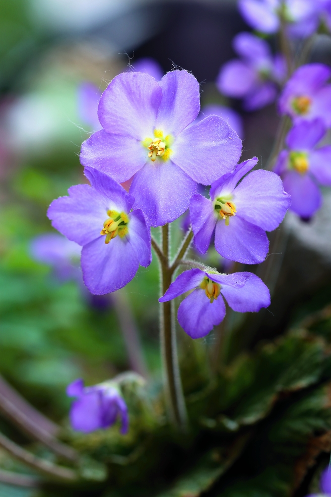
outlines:
{"label": "lower of two blurred yellow-centred purple flowers at right edge", "polygon": [[286,137],[289,150],[283,150],[274,171],[291,194],[290,209],[303,218],[310,218],[322,204],[317,183],[331,186],[331,145],[316,148],[327,132],[321,119],[301,121]]}

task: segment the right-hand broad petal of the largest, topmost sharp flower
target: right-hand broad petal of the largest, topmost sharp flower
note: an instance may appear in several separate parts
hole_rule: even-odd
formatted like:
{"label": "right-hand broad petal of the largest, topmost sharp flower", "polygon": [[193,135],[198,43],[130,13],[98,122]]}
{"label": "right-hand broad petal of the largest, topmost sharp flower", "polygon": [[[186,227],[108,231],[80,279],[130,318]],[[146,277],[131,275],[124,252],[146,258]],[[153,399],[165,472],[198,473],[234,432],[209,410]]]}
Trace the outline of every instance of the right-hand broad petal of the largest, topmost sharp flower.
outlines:
{"label": "right-hand broad petal of the largest, topmost sharp flower", "polygon": [[224,119],[209,116],[178,135],[171,160],[192,179],[208,185],[233,170],[241,148],[240,138]]}

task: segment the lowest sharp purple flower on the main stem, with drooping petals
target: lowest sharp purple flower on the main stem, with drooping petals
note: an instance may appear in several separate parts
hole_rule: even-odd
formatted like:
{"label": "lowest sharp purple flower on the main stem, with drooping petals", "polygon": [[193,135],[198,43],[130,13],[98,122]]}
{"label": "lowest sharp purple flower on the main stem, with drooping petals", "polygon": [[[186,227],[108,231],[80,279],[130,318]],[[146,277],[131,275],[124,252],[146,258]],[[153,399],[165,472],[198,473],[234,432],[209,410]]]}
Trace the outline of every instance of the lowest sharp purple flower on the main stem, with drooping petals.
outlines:
{"label": "lowest sharp purple flower on the main stem, with drooping petals", "polygon": [[227,301],[237,312],[258,312],[270,305],[269,290],[253,273],[220,274],[189,269],[171,283],[159,302],[167,302],[192,291],[180,304],[178,322],[192,338],[201,338],[219,325]]}

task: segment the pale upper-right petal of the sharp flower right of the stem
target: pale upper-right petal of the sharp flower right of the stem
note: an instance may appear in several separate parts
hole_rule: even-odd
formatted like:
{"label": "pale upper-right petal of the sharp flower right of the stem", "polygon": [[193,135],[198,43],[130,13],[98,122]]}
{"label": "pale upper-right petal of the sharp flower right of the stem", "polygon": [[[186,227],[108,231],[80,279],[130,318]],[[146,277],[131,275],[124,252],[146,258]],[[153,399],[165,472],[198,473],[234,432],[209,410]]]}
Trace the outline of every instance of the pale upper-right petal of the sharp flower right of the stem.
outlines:
{"label": "pale upper-right petal of the sharp flower right of the stem", "polygon": [[291,203],[280,177],[263,169],[251,172],[239,183],[233,201],[239,217],[266,231],[279,226]]}

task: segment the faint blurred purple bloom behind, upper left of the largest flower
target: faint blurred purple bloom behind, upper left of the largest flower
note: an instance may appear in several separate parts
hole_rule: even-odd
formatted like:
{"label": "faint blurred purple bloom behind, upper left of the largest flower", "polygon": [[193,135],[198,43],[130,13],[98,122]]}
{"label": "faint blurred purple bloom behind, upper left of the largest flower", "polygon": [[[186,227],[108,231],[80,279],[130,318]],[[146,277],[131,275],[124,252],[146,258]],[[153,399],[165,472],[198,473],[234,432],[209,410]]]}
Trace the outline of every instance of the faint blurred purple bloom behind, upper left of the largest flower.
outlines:
{"label": "faint blurred purple bloom behind, upper left of the largest flower", "polygon": [[101,91],[95,84],[85,82],[78,86],[78,115],[81,121],[93,130],[102,128],[98,119],[98,105]]}

